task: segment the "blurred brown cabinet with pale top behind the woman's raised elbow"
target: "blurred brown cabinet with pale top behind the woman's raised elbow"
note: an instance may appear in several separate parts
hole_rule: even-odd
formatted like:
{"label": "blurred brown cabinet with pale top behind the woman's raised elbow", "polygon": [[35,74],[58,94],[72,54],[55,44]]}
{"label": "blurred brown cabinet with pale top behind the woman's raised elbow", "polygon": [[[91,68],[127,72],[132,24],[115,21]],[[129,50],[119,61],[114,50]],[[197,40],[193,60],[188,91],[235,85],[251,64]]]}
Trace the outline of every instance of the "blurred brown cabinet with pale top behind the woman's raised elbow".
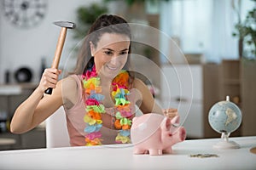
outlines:
{"label": "blurred brown cabinet with pale top behind the woman's raised elbow", "polygon": [[37,84],[33,83],[0,85],[0,113],[1,117],[4,118],[1,120],[3,126],[0,131],[0,140],[15,140],[15,144],[0,144],[0,150],[43,148],[46,146],[45,129],[42,126],[23,134],[9,132],[9,122],[15,109],[32,93],[36,86]]}

